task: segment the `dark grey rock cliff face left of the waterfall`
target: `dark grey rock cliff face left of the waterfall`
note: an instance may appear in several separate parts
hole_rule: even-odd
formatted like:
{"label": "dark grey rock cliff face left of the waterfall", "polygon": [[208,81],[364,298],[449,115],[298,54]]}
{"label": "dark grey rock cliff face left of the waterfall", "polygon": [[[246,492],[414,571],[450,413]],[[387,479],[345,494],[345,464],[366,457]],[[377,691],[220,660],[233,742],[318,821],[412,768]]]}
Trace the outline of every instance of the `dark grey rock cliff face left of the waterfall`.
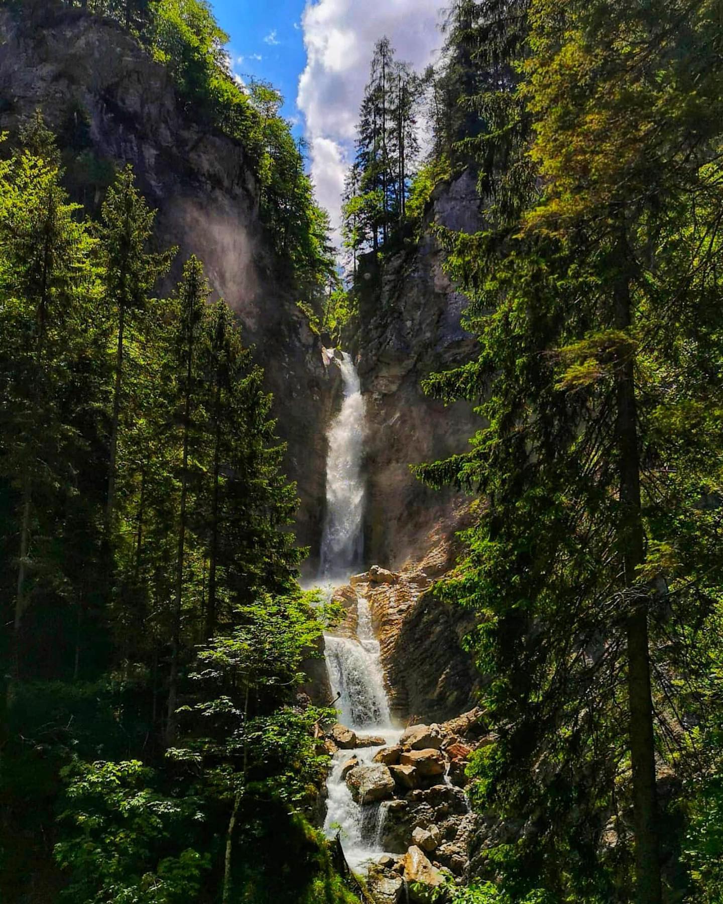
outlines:
{"label": "dark grey rock cliff face left of the waterfall", "polygon": [[82,121],[95,165],[133,165],[158,209],[159,244],[179,248],[170,281],[193,252],[238,313],[288,443],[286,470],[301,499],[299,541],[314,546],[323,516],[324,429],[338,375],[324,367],[317,338],[277,274],[243,148],[199,126],[164,67],[116,24],[79,9],[49,14],[33,29],[0,11],[0,130],[14,133],[36,108],[61,137]]}

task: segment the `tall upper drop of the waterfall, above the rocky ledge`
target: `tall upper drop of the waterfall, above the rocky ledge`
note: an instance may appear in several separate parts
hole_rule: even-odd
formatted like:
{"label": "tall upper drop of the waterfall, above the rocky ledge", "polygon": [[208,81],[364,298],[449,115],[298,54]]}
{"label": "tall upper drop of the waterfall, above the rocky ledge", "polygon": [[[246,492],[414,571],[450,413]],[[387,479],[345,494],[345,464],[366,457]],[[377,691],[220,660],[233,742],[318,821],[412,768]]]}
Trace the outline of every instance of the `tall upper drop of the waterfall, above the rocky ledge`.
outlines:
{"label": "tall upper drop of the waterfall, above the rocky ledge", "polygon": [[329,430],[326,460],[326,520],[321,549],[324,581],[349,579],[362,563],[364,514],[364,399],[351,355],[334,359],[342,372],[342,410]]}

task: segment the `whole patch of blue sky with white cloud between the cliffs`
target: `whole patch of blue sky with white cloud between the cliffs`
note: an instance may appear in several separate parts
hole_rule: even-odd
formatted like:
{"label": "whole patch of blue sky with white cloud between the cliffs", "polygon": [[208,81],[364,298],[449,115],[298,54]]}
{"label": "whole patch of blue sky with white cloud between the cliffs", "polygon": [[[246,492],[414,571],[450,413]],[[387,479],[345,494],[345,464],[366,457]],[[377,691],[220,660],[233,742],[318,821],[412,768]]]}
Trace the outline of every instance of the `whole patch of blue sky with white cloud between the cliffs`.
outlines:
{"label": "whole patch of blue sky with white cloud between the cliffs", "polygon": [[[374,43],[386,35],[418,71],[434,61],[450,0],[211,0],[234,71],[270,81],[309,145],[318,202],[340,221],[344,175]],[[338,240],[338,232],[334,238]]]}

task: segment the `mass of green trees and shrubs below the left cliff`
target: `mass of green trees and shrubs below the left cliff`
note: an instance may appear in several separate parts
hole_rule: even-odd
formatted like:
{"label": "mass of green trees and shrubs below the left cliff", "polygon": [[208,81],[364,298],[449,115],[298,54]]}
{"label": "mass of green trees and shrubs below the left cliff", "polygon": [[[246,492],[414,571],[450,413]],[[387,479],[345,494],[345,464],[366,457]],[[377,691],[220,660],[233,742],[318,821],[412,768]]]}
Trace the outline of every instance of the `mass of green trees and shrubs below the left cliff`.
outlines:
{"label": "mass of green trees and shrubs below the left cliff", "polygon": [[240,894],[245,847],[324,780],[332,713],[298,692],[335,613],[296,585],[264,375],[201,261],[153,297],[172,252],[132,172],[91,225],[42,118],[24,137],[0,162],[3,894]]}

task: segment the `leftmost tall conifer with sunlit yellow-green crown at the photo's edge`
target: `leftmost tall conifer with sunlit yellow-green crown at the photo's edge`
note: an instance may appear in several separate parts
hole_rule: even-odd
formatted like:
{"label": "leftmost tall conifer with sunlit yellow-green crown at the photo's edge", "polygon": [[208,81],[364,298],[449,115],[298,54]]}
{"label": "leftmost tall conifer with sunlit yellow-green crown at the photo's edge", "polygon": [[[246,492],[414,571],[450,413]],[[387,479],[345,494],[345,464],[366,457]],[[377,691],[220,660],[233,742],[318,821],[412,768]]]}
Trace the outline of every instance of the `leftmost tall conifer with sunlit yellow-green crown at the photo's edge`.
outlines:
{"label": "leftmost tall conifer with sunlit yellow-green crown at the photo's edge", "polygon": [[82,307],[94,297],[93,241],[77,219],[77,205],[61,189],[52,161],[28,152],[6,162],[3,181],[2,255],[3,392],[2,470],[17,497],[17,581],[14,665],[23,617],[33,593],[33,528],[48,526],[39,494],[68,479],[76,437],[64,418],[63,393],[72,363],[82,353]]}

